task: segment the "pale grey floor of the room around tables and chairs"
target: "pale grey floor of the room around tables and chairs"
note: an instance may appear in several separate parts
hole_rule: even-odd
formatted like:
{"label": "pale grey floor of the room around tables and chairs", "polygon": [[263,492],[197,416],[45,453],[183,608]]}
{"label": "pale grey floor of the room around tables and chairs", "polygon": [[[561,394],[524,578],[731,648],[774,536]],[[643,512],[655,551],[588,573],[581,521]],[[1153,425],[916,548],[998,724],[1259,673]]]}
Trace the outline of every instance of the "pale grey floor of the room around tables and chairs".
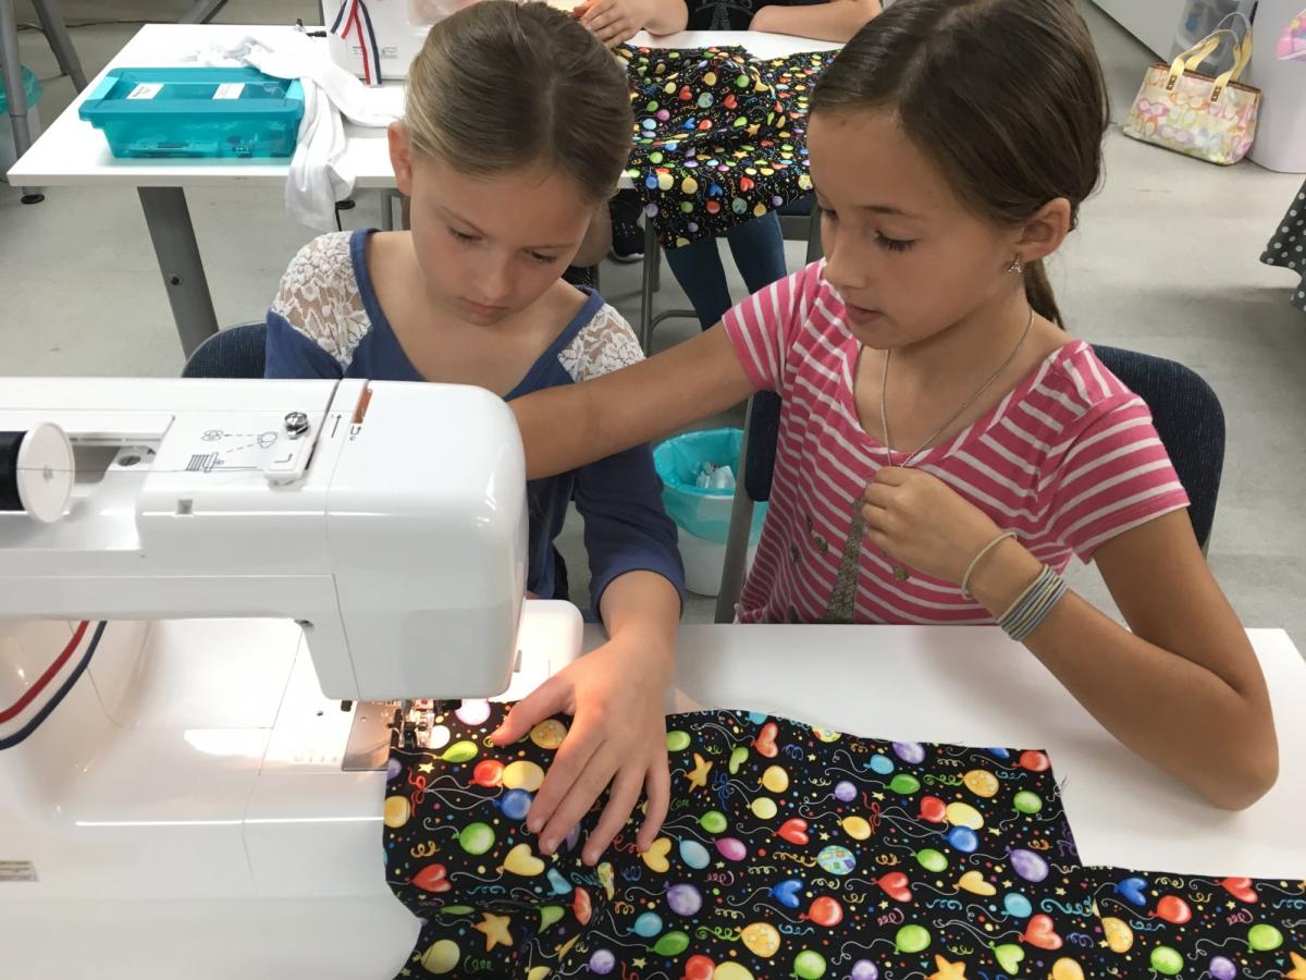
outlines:
{"label": "pale grey floor of the room around tables and chairs", "polygon": [[[71,24],[89,20],[175,20],[185,0],[64,3]],[[20,20],[34,21],[21,0]],[[1152,56],[1111,21],[1088,16],[1109,73],[1115,118],[1128,110]],[[231,0],[227,22],[317,20],[312,0]],[[85,26],[73,39],[88,74],[98,71],[135,25]],[[25,31],[24,60],[46,86],[52,118],[72,98],[42,37]],[[1198,368],[1224,400],[1229,452],[1211,545],[1211,564],[1249,626],[1286,627],[1306,649],[1306,316],[1288,304],[1293,277],[1258,263],[1299,176],[1251,163],[1215,167],[1124,139],[1107,139],[1101,193],[1081,230],[1053,267],[1071,328],[1091,341],[1171,357]],[[218,319],[261,319],[290,256],[308,238],[282,212],[279,193],[196,192],[191,208]],[[359,199],[349,223],[377,222]],[[802,244],[790,244],[790,267]],[[603,291],[633,320],[637,267],[603,268]],[[742,284],[733,278],[737,294]],[[658,307],[684,306],[663,274]],[[182,366],[172,321],[135,193],[56,188],[22,206],[0,184],[0,375],[172,375]],[[666,324],[657,346],[690,336]],[[563,550],[584,567],[576,528]],[[584,578],[576,575],[575,578]],[[1076,585],[1105,608],[1093,570]],[[712,604],[691,604],[708,621]]]}

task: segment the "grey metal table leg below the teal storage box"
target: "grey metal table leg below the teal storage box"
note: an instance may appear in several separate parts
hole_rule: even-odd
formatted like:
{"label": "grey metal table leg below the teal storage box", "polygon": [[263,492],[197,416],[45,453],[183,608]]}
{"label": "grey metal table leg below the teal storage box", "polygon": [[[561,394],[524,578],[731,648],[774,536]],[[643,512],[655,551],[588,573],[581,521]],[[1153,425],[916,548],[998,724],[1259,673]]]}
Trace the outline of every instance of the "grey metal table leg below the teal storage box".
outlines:
{"label": "grey metal table leg below the teal storage box", "polygon": [[182,350],[189,357],[191,351],[218,332],[218,318],[213,311],[191,212],[185,206],[185,191],[180,187],[141,187],[138,193],[167,298],[172,304]]}

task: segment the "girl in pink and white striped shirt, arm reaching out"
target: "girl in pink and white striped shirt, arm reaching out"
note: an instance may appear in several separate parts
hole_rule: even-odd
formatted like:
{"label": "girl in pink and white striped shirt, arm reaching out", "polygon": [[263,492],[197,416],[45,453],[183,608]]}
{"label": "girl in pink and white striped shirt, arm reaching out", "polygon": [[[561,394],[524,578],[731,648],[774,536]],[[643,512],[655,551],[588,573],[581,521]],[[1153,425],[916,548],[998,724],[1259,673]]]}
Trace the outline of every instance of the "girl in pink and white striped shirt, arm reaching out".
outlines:
{"label": "girl in pink and white striped shirt, arm reaching out", "polygon": [[[899,0],[814,98],[827,259],[513,408],[543,476],[780,392],[742,621],[996,621],[1135,751],[1242,808],[1277,774],[1264,678],[1147,406],[1066,335],[1042,268],[1106,123],[1070,0]],[[1132,631],[1066,591],[1072,554]]]}

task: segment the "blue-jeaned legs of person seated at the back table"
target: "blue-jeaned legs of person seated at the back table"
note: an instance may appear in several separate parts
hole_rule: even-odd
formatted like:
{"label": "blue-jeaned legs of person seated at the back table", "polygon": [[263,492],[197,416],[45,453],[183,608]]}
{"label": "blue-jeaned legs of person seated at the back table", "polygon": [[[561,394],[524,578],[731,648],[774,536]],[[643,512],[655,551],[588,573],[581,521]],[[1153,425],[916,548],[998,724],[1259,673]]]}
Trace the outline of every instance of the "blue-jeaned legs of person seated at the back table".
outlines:
{"label": "blue-jeaned legs of person seated at the back table", "polygon": [[[785,277],[785,239],[780,218],[773,212],[735,225],[725,237],[750,293]],[[693,304],[703,329],[720,323],[731,299],[717,239],[704,238],[680,248],[669,248],[666,261]]]}

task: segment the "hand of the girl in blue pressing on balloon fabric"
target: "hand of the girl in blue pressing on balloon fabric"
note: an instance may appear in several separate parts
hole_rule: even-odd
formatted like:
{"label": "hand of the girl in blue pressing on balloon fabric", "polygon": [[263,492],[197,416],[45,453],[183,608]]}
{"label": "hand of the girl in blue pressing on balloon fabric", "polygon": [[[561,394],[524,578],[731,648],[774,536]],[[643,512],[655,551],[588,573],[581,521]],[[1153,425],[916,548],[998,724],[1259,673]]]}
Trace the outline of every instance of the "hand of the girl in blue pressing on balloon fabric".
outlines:
{"label": "hand of the girl in blue pressing on balloon fabric", "polygon": [[663,696],[671,659],[670,651],[609,642],[520,700],[490,736],[495,745],[511,745],[547,717],[573,716],[526,818],[541,853],[556,851],[605,789],[607,805],[585,841],[585,864],[598,862],[641,788],[648,804],[635,843],[641,852],[653,843],[670,797]]}

